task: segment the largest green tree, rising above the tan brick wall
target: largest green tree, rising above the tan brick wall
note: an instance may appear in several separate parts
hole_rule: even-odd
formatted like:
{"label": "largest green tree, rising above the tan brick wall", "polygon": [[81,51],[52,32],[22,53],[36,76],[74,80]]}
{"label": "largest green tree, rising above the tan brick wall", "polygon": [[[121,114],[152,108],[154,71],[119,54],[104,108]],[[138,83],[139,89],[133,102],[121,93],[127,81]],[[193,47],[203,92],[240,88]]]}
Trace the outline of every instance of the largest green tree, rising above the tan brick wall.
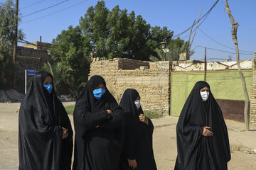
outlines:
{"label": "largest green tree, rising above the tan brick wall", "polygon": [[152,28],[142,16],[134,11],[127,13],[115,6],[112,11],[104,1],[88,8],[80,18],[82,35],[90,37],[94,57],[126,57],[136,60],[149,60],[157,56],[158,41],[170,38],[173,33],[167,28]]}

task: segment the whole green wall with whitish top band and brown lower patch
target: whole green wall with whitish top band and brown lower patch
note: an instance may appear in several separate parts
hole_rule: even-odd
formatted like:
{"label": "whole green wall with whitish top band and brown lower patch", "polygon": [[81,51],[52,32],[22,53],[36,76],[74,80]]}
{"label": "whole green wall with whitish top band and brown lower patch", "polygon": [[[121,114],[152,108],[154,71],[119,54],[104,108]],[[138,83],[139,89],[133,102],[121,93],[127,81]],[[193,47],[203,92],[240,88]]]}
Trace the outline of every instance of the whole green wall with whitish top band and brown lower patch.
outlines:
{"label": "whole green wall with whitish top band and brown lower patch", "polygon": [[[251,97],[253,61],[240,61]],[[171,115],[179,115],[196,81],[205,80],[223,111],[224,118],[244,121],[245,96],[236,62],[178,61],[171,72]],[[255,93],[256,94],[256,93]],[[232,108],[232,109],[231,109]],[[234,112],[235,109],[235,112]],[[255,111],[256,112],[256,111]]]}

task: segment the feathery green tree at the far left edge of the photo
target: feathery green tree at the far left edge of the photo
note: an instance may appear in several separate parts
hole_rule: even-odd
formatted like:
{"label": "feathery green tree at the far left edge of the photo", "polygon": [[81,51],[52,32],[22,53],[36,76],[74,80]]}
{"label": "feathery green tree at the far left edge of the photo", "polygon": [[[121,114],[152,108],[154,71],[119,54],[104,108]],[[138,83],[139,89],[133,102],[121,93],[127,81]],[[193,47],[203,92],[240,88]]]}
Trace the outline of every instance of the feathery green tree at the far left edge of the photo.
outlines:
{"label": "feathery green tree at the far left edge of the photo", "polygon": [[[15,69],[15,65],[12,62],[13,45],[16,40],[14,28],[14,2],[8,0],[0,3],[0,89],[7,86],[6,79],[11,77],[11,73]],[[23,32],[18,30],[18,40],[22,40],[23,37]]]}

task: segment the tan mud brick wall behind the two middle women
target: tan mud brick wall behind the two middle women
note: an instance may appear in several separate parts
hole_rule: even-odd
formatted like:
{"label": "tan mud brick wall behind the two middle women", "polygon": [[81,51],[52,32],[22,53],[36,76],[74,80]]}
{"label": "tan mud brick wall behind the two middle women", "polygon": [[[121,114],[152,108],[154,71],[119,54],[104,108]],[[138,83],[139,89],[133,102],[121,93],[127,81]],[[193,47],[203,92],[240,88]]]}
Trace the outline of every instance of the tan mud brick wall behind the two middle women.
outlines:
{"label": "tan mud brick wall behind the two middle women", "polygon": [[104,77],[107,89],[119,102],[126,89],[137,89],[144,111],[169,115],[170,62],[143,62],[129,59],[94,60],[90,77]]}

